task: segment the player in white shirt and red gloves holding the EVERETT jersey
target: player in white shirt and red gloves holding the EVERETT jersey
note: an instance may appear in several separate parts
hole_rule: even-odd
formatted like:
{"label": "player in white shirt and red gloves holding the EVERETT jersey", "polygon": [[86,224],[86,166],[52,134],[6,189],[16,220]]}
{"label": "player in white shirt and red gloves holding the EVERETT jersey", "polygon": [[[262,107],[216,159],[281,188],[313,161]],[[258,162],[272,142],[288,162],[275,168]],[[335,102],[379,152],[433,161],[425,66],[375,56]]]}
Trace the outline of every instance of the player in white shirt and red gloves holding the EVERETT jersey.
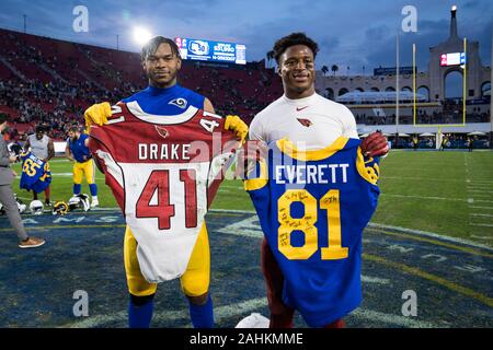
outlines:
{"label": "player in white shirt and red gloves holding the EVERETT jersey", "polygon": [[[274,57],[284,95],[254,117],[250,139],[272,142],[286,137],[298,149],[318,150],[332,144],[339,137],[358,138],[351,110],[316,93],[318,51],[317,43],[303,33],[293,33],[275,43]],[[360,148],[367,156],[385,155],[389,150],[387,139],[380,132],[368,136]],[[265,238],[262,271],[267,287],[270,327],[293,327],[295,310],[283,302],[284,277]],[[336,319],[325,326],[342,327],[344,323]]]}

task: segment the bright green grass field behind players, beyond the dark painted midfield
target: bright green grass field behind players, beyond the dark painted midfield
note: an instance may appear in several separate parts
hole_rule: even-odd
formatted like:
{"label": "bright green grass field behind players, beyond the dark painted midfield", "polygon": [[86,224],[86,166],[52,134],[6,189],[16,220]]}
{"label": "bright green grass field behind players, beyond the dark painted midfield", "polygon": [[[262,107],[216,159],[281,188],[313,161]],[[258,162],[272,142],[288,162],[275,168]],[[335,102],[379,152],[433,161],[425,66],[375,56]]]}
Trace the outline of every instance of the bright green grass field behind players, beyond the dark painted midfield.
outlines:
{"label": "bright green grass field behind players, beyond the dark painted midfield", "polygon": [[[51,200],[71,197],[72,164],[50,162]],[[14,170],[20,173],[20,165]],[[467,238],[493,246],[493,152],[393,150],[380,165],[381,197],[372,222]],[[104,176],[96,175],[101,207],[116,207]],[[19,189],[24,201],[32,195]],[[89,194],[83,184],[82,191]],[[41,195],[43,198],[43,195]],[[253,210],[241,180],[225,180],[214,209]]]}

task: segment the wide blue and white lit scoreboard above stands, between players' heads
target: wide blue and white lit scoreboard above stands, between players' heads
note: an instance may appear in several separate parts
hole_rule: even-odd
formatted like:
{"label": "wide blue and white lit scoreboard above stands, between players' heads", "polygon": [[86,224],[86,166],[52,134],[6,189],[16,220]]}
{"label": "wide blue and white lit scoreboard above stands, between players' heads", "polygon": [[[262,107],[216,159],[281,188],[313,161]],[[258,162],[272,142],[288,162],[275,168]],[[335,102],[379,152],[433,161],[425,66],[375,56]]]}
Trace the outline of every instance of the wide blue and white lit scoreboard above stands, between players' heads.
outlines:
{"label": "wide blue and white lit scoreboard above stands, between players' heads", "polygon": [[246,47],[242,44],[174,38],[182,59],[246,65]]}

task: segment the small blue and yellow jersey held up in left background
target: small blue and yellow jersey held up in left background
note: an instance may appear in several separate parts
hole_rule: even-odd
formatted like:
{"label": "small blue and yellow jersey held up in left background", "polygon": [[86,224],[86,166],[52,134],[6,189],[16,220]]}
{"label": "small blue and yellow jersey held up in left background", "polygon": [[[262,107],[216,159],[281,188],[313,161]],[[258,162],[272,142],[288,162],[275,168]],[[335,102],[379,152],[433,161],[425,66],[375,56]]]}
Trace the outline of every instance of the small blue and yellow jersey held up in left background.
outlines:
{"label": "small blue and yellow jersey held up in left background", "polygon": [[31,152],[21,153],[22,175],[20,187],[35,192],[44,191],[51,183],[49,164]]}

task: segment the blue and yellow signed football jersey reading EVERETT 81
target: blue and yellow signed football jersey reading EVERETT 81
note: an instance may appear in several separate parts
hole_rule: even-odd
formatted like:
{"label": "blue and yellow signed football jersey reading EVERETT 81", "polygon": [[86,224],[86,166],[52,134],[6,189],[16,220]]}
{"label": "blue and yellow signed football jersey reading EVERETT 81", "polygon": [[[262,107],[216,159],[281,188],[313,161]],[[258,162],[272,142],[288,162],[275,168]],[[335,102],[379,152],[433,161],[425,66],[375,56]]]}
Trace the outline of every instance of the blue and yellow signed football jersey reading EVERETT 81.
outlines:
{"label": "blue and yellow signed football jersey reading EVERETT 81", "polygon": [[362,233],[377,208],[379,166],[359,142],[300,151],[278,140],[244,182],[285,278],[283,301],[312,327],[362,301]]}

